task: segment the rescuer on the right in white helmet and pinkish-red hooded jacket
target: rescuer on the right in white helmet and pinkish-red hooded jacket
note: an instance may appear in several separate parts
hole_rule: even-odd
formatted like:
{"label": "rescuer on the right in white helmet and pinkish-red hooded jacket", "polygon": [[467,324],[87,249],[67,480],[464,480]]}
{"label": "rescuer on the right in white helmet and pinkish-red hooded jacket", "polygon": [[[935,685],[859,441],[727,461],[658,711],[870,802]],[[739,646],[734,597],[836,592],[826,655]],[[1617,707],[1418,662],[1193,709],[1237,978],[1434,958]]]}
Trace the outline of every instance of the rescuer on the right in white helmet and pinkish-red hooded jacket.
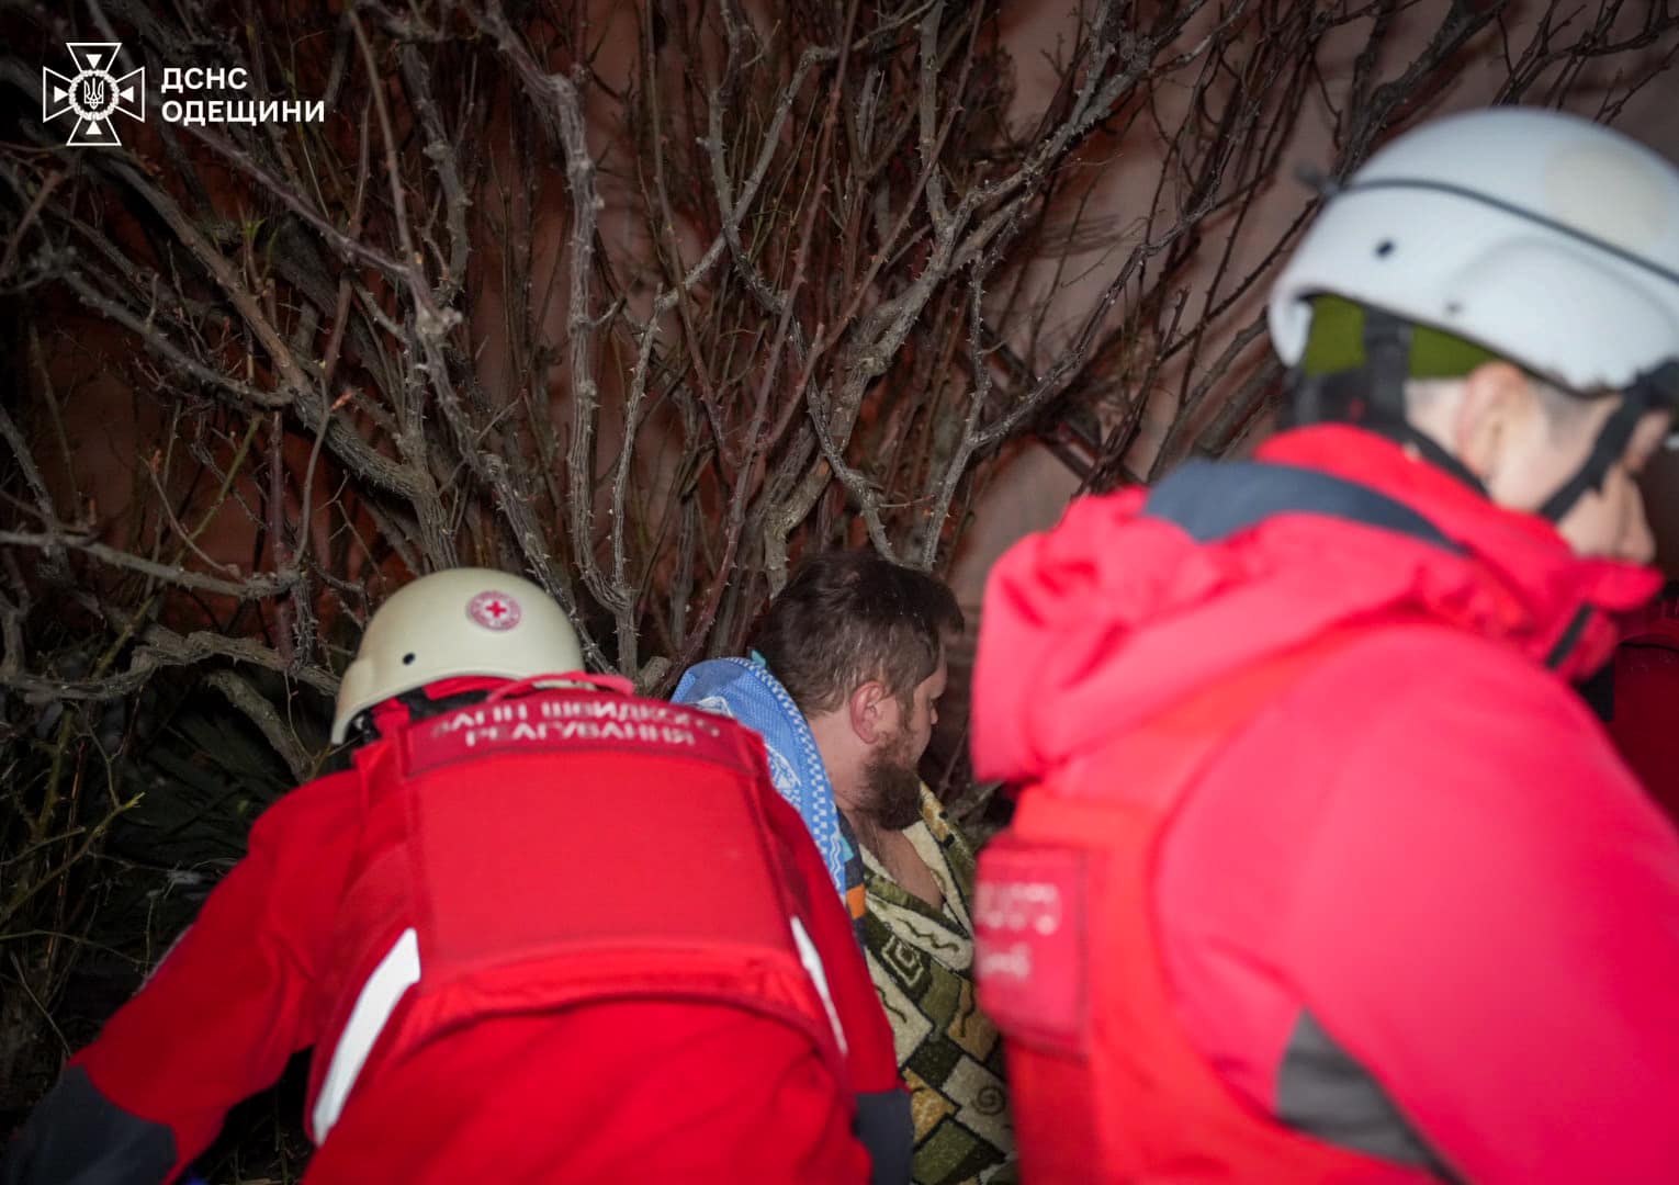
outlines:
{"label": "rescuer on the right in white helmet and pinkish-red hooded jacket", "polygon": [[1551,111],[1425,124],[1271,337],[1301,426],[991,576],[1023,1177],[1679,1182],[1679,838],[1570,686],[1661,584],[1679,171]]}

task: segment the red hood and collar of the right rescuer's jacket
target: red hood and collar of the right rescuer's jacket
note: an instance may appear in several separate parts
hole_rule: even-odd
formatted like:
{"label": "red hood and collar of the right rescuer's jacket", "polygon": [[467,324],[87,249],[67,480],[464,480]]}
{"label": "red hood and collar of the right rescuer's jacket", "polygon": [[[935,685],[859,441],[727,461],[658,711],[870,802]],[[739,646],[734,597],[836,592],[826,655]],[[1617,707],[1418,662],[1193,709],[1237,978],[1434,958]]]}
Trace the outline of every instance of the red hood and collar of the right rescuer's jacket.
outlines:
{"label": "red hood and collar of the right rescuer's jacket", "polygon": [[1661,587],[1652,569],[1580,559],[1538,515],[1357,428],[1284,433],[1258,460],[1385,495],[1437,537],[1283,512],[1197,542],[1143,512],[1150,490],[1076,500],[987,581],[972,707],[981,777],[1038,780],[1221,675],[1358,619],[1422,614],[1578,678]]}

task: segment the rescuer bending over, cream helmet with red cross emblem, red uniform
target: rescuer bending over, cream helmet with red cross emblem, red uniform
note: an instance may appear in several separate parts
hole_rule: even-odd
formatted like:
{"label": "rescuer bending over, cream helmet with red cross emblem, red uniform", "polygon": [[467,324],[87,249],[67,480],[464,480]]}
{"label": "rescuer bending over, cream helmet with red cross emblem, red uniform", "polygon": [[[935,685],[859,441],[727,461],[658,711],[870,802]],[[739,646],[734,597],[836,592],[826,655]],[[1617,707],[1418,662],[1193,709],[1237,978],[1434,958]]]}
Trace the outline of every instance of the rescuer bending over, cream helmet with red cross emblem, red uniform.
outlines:
{"label": "rescuer bending over, cream helmet with red cross emblem, red uniform", "polygon": [[307,1182],[908,1180],[892,1031],[762,744],[581,666],[529,581],[391,596],[353,767],[257,822],[0,1178],[173,1180],[314,1046]]}

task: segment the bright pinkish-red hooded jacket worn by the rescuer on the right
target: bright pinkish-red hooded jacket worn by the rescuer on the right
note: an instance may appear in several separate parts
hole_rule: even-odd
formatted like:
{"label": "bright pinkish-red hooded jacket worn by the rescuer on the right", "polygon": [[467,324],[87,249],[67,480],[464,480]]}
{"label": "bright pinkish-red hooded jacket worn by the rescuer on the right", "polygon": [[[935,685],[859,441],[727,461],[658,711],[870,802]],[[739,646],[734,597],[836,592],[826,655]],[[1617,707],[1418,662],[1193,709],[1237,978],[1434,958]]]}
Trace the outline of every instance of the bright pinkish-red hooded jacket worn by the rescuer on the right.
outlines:
{"label": "bright pinkish-red hooded jacket worn by the rescuer on the right", "polygon": [[[1148,802],[1100,750],[1367,633],[1231,722],[1170,817],[1138,952],[1169,1015],[1043,999],[1108,1047],[1174,1026],[1231,1108],[1395,1167],[1679,1180],[1679,839],[1568,685],[1657,584],[1340,426],[1076,502],[992,572],[981,777]],[[1135,1121],[1113,1101],[1103,1140],[1147,1146]],[[1232,1148],[1187,1151],[1254,1178]]]}

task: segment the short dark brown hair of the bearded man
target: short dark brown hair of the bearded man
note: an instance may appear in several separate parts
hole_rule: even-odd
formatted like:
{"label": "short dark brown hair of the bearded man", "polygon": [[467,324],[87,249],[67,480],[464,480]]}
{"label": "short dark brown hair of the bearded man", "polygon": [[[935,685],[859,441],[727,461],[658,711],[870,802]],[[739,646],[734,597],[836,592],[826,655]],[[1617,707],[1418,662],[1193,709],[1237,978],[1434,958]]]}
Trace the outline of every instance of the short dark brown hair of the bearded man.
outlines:
{"label": "short dark brown hair of the bearded man", "polygon": [[804,715],[823,715],[870,680],[908,707],[939,670],[945,629],[962,629],[962,609],[939,577],[875,552],[823,552],[799,566],[749,645]]}

